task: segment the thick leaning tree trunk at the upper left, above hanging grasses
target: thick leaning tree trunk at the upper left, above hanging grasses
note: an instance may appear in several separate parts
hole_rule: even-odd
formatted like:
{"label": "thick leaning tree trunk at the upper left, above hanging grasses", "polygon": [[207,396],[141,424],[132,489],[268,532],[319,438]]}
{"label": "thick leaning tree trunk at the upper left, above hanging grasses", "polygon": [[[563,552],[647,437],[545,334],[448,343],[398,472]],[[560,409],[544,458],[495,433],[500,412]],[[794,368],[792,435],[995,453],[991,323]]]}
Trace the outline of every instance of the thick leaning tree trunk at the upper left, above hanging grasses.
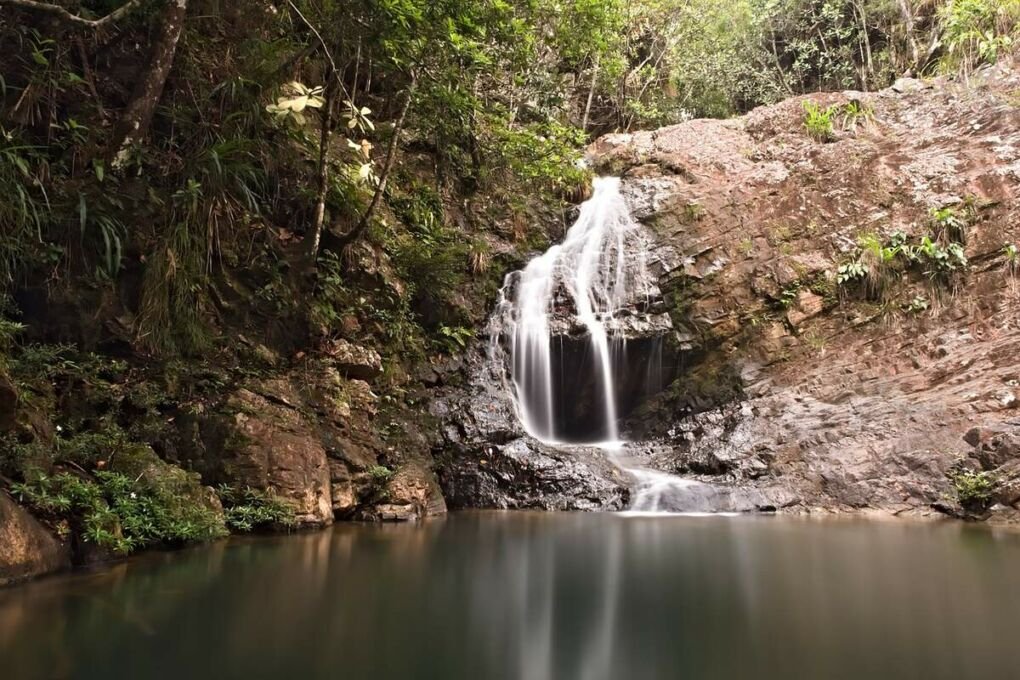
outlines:
{"label": "thick leaning tree trunk at the upper left, above hanging grasses", "polygon": [[188,0],[169,0],[160,19],[159,35],[152,46],[149,66],[135,88],[128,108],[120,115],[107,149],[111,167],[117,169],[128,159],[131,147],[141,143],[149,132],[156,105],[163,94],[166,76],[173,65],[177,41],[185,28]]}

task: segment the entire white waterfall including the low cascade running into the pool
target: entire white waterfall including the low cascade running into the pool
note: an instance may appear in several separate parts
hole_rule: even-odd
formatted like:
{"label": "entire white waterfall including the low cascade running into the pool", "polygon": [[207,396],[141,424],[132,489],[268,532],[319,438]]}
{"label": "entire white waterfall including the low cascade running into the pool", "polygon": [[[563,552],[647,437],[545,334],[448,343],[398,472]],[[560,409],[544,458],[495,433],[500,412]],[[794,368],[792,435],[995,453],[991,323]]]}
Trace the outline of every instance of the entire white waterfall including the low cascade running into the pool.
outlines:
{"label": "entire white waterfall including the low cascade running into the pool", "polygon": [[[507,276],[490,322],[490,357],[528,434],[553,447],[599,447],[629,473],[631,512],[702,510],[711,486],[631,462],[619,433],[621,375],[631,371],[647,386],[661,371],[655,353],[636,369],[627,362],[627,329],[659,295],[648,250],[620,179],[597,178],[563,243]],[[579,361],[568,364],[567,343],[581,346]],[[578,405],[591,411],[581,436],[567,425]]]}

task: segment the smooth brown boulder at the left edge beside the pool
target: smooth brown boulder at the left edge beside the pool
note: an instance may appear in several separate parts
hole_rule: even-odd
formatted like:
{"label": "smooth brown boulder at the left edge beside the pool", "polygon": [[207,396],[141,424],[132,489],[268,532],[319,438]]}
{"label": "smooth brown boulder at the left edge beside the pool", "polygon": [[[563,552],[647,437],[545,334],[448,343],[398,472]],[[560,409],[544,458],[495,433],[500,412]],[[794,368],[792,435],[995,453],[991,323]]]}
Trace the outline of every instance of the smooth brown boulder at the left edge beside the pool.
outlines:
{"label": "smooth brown boulder at the left edge beside the pool", "polygon": [[70,568],[70,548],[0,491],[0,586]]}

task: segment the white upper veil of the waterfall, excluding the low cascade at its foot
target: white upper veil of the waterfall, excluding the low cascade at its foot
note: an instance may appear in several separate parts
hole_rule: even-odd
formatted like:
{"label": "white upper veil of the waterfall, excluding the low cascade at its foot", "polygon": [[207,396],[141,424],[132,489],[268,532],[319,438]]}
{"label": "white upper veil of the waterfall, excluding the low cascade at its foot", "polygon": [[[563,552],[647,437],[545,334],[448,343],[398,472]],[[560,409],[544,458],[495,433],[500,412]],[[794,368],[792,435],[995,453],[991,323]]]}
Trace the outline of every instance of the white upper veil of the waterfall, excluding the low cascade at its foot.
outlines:
{"label": "white upper veil of the waterfall, excluding the low cascade at its foot", "polygon": [[573,336],[586,343],[591,358],[597,431],[604,443],[619,440],[615,374],[626,352],[620,322],[648,297],[646,250],[619,178],[600,177],[563,243],[507,277],[492,321],[491,355],[509,367],[508,388],[531,436],[565,440],[559,411],[571,396],[557,387],[562,366],[555,365],[554,343]]}

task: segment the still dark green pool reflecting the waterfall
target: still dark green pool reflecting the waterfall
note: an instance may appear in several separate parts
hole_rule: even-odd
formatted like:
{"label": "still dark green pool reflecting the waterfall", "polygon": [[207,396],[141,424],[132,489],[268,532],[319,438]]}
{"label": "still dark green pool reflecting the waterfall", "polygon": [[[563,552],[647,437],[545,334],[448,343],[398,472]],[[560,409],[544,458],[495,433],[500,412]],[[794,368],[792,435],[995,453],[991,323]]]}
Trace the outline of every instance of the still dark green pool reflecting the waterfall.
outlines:
{"label": "still dark green pool reflecting the waterfall", "polygon": [[0,590],[0,677],[1020,677],[1020,536],[465,513]]}

